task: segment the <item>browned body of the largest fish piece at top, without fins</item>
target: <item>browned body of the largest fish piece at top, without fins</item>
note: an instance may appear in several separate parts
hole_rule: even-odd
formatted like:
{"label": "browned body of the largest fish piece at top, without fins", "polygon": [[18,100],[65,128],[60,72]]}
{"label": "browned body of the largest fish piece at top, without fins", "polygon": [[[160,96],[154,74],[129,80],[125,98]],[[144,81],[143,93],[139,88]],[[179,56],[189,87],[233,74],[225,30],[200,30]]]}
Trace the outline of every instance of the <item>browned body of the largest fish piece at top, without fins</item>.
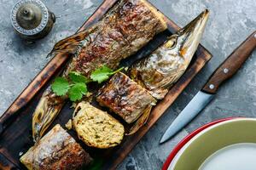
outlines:
{"label": "browned body of the largest fish piece at top, without fins", "polygon": [[156,34],[166,30],[163,18],[147,1],[119,1],[84,38],[67,70],[88,77],[102,65],[116,69],[121,59],[136,53]]}

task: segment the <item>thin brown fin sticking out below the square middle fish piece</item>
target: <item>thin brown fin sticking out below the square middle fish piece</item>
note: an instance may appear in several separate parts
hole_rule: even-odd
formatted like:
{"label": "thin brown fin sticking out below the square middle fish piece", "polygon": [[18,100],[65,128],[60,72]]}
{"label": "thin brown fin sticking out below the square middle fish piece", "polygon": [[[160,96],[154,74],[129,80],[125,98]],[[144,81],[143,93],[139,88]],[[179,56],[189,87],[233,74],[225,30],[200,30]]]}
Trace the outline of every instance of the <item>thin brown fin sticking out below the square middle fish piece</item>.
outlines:
{"label": "thin brown fin sticking out below the square middle fish piece", "polygon": [[143,111],[143,115],[139,117],[137,122],[134,123],[134,125],[130,128],[128,133],[125,133],[125,135],[131,135],[137,132],[137,130],[140,127],[143,127],[143,125],[148,121],[148,116],[150,115],[152,109],[152,105],[148,105],[148,107]]}

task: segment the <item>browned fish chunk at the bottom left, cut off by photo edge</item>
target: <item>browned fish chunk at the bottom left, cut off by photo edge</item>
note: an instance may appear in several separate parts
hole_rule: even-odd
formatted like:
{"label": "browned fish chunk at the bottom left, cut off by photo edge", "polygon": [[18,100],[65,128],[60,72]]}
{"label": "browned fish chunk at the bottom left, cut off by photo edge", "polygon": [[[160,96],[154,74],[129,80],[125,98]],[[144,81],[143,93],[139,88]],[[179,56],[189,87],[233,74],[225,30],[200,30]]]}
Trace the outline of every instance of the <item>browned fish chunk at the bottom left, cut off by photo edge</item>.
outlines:
{"label": "browned fish chunk at the bottom left, cut off by photo edge", "polygon": [[57,124],[20,161],[29,170],[73,170],[88,165],[92,158]]}

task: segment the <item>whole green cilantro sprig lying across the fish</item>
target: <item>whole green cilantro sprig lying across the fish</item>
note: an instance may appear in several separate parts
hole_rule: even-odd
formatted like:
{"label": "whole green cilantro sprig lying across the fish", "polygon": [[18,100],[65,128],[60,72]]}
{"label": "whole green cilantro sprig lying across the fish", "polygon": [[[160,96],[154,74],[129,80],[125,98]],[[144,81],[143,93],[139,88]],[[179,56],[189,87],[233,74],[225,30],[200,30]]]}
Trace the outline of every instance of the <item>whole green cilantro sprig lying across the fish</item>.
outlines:
{"label": "whole green cilantro sprig lying across the fish", "polygon": [[88,82],[102,83],[108,80],[111,75],[123,69],[122,67],[117,71],[112,71],[108,66],[102,65],[90,74],[90,79],[79,72],[71,71],[68,73],[68,77],[56,77],[51,89],[58,96],[67,95],[71,101],[77,101],[88,93],[86,85]]}

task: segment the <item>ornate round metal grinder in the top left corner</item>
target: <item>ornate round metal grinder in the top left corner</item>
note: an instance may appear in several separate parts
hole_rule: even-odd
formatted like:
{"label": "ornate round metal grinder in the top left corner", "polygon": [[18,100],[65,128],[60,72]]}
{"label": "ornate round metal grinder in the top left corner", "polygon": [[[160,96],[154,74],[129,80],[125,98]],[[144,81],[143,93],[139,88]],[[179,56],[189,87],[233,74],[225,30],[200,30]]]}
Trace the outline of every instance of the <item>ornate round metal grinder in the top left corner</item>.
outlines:
{"label": "ornate round metal grinder in the top left corner", "polygon": [[11,22],[20,37],[33,41],[51,31],[55,14],[39,0],[21,0],[12,9]]}

